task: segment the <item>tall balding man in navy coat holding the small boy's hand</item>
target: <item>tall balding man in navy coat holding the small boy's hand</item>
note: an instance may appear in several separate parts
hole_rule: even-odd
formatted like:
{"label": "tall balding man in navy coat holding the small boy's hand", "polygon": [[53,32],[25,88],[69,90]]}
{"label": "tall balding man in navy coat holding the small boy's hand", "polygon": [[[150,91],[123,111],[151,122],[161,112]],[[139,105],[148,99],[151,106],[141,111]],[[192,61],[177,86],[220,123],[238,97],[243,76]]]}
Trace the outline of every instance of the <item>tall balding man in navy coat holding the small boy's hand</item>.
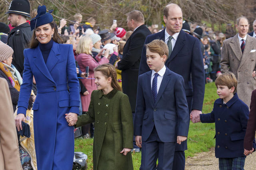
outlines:
{"label": "tall balding man in navy coat holding the small boy's hand", "polygon": [[[164,8],[164,22],[166,29],[159,33],[149,35],[145,44],[154,39],[162,39],[169,44],[169,56],[165,63],[166,67],[184,78],[186,99],[189,112],[193,115],[193,123],[200,120],[204,101],[204,64],[200,48],[200,42],[195,37],[185,33],[182,28],[182,10],[176,4],[169,4]],[[170,37],[172,36],[172,37]],[[170,41],[169,41],[170,39]],[[168,43],[169,41],[169,43]],[[146,48],[142,50],[139,74],[149,71],[146,63]],[[176,145],[173,169],[184,170],[185,152],[187,143]]]}

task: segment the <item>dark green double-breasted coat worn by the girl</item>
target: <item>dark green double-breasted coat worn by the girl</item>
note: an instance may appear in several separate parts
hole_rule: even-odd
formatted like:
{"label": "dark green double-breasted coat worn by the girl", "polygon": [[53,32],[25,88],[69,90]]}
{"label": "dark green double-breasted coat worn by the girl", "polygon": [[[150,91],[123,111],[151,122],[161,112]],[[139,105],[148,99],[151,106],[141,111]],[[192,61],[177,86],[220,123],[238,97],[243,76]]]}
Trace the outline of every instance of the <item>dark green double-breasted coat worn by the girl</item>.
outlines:
{"label": "dark green double-breasted coat worn by the girl", "polygon": [[132,155],[120,153],[133,148],[132,110],[126,94],[114,89],[104,95],[94,90],[88,112],[78,116],[76,127],[95,122],[94,170],[133,170]]}

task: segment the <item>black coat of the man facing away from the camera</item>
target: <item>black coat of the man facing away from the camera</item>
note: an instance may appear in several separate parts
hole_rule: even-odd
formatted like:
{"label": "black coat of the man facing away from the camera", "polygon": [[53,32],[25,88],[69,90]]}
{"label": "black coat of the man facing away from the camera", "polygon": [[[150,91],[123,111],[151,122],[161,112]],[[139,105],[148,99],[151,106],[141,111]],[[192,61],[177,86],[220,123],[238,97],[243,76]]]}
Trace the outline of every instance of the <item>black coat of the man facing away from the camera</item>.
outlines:
{"label": "black coat of the man facing away from the camera", "polygon": [[122,60],[118,70],[122,70],[122,89],[130,100],[132,111],[135,111],[140,57],[144,41],[151,32],[145,25],[140,25],[124,45]]}

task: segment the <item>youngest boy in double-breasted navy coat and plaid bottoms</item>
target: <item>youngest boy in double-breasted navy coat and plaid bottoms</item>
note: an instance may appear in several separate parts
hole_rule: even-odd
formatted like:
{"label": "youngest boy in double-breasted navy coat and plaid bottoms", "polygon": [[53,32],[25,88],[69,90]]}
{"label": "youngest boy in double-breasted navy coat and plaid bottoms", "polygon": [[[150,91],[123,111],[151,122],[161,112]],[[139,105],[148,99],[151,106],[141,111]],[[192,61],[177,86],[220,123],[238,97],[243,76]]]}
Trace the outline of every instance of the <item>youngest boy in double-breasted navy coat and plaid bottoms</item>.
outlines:
{"label": "youngest boy in double-breasted navy coat and plaid bottoms", "polygon": [[202,123],[215,122],[215,156],[219,158],[219,169],[243,170],[246,158],[244,136],[249,109],[235,93],[237,80],[233,73],[227,72],[218,76],[215,85],[220,98],[215,100],[211,113],[200,114],[200,121]]}

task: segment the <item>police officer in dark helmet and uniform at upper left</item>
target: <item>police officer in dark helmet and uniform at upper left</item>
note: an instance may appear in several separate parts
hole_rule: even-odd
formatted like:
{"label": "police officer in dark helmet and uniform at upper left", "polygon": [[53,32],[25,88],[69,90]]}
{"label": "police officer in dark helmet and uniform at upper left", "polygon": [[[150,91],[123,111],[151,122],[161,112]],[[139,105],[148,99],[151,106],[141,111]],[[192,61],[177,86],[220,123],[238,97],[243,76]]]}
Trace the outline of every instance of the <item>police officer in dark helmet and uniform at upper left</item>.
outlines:
{"label": "police officer in dark helmet and uniform at upper left", "polygon": [[24,69],[23,50],[28,48],[32,31],[30,24],[26,21],[26,17],[30,17],[30,4],[28,0],[12,0],[9,6],[8,20],[13,28],[9,35],[7,44],[12,47],[14,53],[12,55],[12,64],[21,73]]}

